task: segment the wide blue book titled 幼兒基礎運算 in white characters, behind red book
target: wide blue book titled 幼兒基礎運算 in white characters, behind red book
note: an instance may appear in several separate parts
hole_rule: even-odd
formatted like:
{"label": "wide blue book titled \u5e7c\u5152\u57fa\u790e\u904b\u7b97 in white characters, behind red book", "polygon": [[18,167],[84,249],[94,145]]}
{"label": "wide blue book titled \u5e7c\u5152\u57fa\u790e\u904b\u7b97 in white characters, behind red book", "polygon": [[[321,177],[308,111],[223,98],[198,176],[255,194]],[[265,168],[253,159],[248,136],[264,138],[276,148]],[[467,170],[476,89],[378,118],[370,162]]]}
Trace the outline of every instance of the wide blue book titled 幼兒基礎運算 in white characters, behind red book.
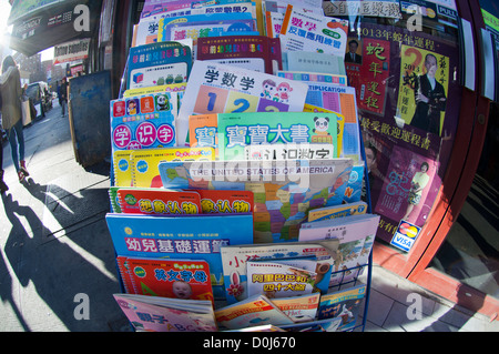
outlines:
{"label": "wide blue book titled \u5e7c\u5152\u57fa\u790e\u904b\u7b97 in white characters, behind red book", "polygon": [[118,255],[204,260],[213,295],[225,299],[221,247],[253,243],[253,215],[181,218],[109,213],[105,216]]}

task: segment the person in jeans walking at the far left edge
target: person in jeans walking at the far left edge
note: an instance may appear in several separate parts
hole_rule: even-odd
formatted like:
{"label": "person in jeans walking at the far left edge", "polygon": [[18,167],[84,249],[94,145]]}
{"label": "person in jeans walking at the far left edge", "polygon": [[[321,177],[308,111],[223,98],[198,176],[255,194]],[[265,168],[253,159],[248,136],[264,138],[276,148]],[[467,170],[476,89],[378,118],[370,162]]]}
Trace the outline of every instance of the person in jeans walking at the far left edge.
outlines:
{"label": "person in jeans walking at the far left edge", "polygon": [[[12,162],[18,171],[19,182],[29,175],[24,162],[24,134],[22,132],[21,77],[16,61],[7,55],[2,62],[0,94],[2,98],[2,125],[7,131],[12,152]],[[19,149],[18,149],[19,148]]]}

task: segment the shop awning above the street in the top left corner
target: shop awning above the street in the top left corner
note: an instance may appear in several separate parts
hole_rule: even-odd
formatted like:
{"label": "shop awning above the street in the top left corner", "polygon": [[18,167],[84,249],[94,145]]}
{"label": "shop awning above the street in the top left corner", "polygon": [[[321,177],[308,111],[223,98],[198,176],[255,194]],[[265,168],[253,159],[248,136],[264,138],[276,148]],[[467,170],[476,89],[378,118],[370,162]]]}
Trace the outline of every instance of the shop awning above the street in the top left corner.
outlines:
{"label": "shop awning above the street in the top left corner", "polygon": [[101,4],[102,0],[14,0],[8,20],[13,24],[10,48],[31,57],[70,40],[92,38],[99,30]]}

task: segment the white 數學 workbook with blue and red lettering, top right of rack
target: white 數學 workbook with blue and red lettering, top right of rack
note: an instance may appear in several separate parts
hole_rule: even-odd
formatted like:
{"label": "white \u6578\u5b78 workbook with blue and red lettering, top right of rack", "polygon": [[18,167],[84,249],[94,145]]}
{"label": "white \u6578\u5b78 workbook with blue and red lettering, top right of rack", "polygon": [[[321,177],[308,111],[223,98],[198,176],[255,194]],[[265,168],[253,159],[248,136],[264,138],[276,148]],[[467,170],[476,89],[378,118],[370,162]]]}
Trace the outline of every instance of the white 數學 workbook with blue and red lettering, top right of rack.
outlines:
{"label": "white \u6578\u5b78 workbook with blue and red lettering, top right of rack", "polygon": [[323,52],[343,57],[348,21],[304,11],[288,4],[279,39],[285,51]]}

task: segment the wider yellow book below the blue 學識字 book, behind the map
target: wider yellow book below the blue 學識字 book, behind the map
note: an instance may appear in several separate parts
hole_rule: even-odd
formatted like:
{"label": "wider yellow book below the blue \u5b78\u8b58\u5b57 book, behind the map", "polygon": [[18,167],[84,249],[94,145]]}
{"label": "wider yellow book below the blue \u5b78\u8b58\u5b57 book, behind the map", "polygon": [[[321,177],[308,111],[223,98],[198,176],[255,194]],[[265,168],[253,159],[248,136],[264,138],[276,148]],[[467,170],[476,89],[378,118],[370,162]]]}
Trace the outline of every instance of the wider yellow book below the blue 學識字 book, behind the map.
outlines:
{"label": "wider yellow book below the blue \u5b78\u8b58\u5b57 book, behind the map", "polygon": [[163,161],[212,160],[215,160],[215,151],[212,148],[163,148],[134,150],[130,158],[132,185],[143,188],[161,188],[163,184],[161,183],[159,165]]}

